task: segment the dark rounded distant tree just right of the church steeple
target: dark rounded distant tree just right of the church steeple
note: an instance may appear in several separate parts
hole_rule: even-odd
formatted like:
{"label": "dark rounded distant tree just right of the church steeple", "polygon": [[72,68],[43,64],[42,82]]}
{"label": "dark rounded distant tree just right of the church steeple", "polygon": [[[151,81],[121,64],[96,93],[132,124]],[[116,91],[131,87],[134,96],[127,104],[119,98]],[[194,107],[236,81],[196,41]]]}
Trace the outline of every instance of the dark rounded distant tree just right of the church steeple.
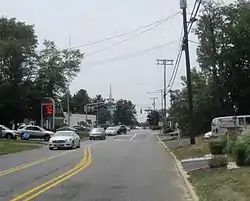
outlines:
{"label": "dark rounded distant tree just right of the church steeple", "polygon": [[114,123],[133,125],[135,122],[137,122],[135,114],[135,105],[131,101],[121,99],[116,103],[116,110],[114,112]]}

